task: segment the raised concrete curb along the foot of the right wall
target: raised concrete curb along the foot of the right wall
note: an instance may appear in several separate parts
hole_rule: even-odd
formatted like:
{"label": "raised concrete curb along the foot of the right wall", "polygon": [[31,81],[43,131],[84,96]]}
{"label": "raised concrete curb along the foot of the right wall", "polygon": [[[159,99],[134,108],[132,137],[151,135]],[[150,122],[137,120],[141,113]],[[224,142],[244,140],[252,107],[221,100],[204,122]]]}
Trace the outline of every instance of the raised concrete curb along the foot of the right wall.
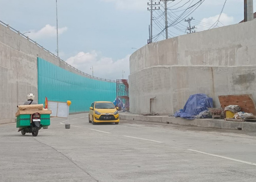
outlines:
{"label": "raised concrete curb along the foot of the right wall", "polygon": [[225,121],[224,119],[194,119],[188,120],[184,118],[175,118],[173,116],[140,116],[138,114],[124,114],[119,113],[120,119],[125,120],[139,120],[146,122],[155,123],[167,123],[167,124],[181,124],[181,125],[191,125],[199,127],[211,127],[211,128],[223,128],[238,130],[242,129],[245,131],[256,131],[256,123],[252,122],[234,122]]}

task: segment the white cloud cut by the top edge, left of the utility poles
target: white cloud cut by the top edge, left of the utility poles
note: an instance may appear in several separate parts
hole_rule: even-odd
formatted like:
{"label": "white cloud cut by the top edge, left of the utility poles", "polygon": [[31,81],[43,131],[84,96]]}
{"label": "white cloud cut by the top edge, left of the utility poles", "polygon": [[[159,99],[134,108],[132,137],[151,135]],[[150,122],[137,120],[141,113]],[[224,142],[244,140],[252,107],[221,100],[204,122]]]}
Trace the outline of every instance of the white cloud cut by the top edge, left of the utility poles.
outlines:
{"label": "white cloud cut by the top edge, left of the utility poles", "polygon": [[139,10],[146,11],[148,0],[102,0],[104,2],[114,3],[119,10]]}

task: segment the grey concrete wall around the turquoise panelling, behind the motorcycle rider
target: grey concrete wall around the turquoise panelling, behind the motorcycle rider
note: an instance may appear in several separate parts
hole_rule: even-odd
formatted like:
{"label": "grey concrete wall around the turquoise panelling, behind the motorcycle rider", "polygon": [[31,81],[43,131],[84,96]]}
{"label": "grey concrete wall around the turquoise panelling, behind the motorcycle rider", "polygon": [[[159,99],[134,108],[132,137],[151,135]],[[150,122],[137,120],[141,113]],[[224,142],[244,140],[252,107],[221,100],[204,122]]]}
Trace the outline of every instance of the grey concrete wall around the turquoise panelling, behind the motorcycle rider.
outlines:
{"label": "grey concrete wall around the turquoise panelling, behind the motorcycle rider", "polygon": [[[28,93],[34,93],[35,100],[38,101],[37,57],[77,75],[90,78],[0,24],[0,124],[15,121],[16,106],[24,103]],[[86,106],[86,109],[88,107]]]}

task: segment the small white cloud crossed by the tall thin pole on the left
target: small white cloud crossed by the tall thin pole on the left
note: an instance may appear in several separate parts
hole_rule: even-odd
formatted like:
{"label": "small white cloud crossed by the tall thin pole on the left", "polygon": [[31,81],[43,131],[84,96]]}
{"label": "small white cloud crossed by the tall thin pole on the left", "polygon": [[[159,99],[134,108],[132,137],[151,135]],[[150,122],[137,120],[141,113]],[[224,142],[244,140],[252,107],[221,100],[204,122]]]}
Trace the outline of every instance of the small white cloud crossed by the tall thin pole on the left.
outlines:
{"label": "small white cloud crossed by the tall thin pole on the left", "polygon": [[[63,32],[67,31],[67,27],[58,28],[58,34],[62,34]],[[30,30],[30,33],[27,34],[29,38],[31,39],[45,39],[48,37],[56,37],[57,36],[57,28],[54,26],[51,26],[49,24],[45,25],[42,29],[39,31]]]}

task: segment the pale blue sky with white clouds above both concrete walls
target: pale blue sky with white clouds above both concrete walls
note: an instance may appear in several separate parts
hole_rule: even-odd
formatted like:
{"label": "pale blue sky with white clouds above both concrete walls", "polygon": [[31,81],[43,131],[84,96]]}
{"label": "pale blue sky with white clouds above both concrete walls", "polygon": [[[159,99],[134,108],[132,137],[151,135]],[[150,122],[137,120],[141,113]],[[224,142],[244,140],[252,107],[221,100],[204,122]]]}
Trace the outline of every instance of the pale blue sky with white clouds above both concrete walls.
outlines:
{"label": "pale blue sky with white clouds above both concrete walls", "polygon": [[[188,32],[184,19],[193,17],[196,32],[244,19],[244,0],[198,1],[167,2],[168,25],[173,25],[169,38]],[[149,39],[147,3],[150,0],[57,0],[60,59],[99,78],[128,79],[129,56]],[[162,1],[156,8],[160,9],[153,11],[153,42],[165,39]],[[253,9],[256,12],[256,0]],[[0,20],[28,32],[26,36],[57,55],[56,0],[0,0]]]}

